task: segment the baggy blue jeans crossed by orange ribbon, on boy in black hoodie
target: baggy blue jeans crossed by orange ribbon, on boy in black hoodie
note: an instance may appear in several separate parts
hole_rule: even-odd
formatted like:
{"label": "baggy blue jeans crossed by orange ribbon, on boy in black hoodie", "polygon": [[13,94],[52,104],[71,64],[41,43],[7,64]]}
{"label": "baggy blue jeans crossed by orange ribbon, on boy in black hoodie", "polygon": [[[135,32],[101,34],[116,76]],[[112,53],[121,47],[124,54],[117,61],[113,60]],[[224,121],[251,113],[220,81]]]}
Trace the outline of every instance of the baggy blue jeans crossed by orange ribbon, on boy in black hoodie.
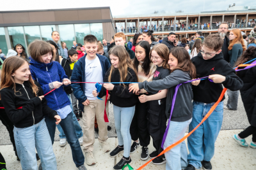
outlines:
{"label": "baggy blue jeans crossed by orange ribbon, on boy in black hoodie", "polygon": [[[214,103],[193,101],[193,120],[189,125],[191,132],[205,117]],[[212,111],[205,122],[188,137],[188,161],[196,169],[202,167],[203,160],[210,161],[214,155],[214,143],[218,137],[223,120],[223,101]]]}

